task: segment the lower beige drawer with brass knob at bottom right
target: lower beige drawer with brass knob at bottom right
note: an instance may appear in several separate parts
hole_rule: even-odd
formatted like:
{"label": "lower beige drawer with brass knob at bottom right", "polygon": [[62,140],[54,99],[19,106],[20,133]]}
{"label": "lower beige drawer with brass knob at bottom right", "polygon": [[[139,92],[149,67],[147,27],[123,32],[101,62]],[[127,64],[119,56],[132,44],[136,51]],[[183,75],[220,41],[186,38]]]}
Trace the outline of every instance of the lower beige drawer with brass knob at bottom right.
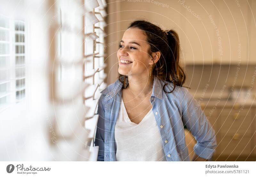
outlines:
{"label": "lower beige drawer with brass knob at bottom right", "polygon": [[[230,155],[249,155],[252,152],[251,135],[247,134],[227,134],[224,137],[217,139],[218,146],[216,147],[216,154],[220,156]],[[251,153],[252,155],[252,153]]]}

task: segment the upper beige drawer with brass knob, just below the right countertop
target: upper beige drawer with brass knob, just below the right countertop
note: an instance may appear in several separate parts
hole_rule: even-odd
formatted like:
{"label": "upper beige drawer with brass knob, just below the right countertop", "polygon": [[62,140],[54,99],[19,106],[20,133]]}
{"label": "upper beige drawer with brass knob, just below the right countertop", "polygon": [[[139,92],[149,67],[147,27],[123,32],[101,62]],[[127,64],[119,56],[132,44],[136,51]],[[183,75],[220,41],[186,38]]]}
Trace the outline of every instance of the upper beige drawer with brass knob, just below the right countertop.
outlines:
{"label": "upper beige drawer with brass knob, just below the right countertop", "polygon": [[[242,133],[251,134],[252,130],[252,110],[224,108],[221,112],[220,131],[221,134]],[[240,111],[240,112],[239,112]]]}

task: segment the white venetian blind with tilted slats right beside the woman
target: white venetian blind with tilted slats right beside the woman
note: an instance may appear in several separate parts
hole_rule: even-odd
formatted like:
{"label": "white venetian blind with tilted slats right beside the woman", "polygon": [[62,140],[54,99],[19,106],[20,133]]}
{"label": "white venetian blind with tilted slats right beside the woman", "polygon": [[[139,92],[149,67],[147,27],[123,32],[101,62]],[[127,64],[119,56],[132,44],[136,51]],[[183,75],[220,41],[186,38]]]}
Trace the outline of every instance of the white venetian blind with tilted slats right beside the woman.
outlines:
{"label": "white venetian blind with tilted slats right beside the woman", "polygon": [[96,161],[97,105],[104,82],[106,2],[59,0],[50,4],[58,20],[50,26],[54,159]]}

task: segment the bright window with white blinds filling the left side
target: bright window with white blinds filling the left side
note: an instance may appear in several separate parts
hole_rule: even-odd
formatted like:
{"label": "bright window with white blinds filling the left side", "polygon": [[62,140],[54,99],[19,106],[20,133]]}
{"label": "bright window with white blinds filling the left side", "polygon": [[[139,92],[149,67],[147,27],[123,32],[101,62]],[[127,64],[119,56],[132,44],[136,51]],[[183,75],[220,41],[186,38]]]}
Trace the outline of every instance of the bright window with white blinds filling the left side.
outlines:
{"label": "bright window with white blinds filling the left side", "polygon": [[96,161],[106,2],[27,2],[0,16],[1,160]]}

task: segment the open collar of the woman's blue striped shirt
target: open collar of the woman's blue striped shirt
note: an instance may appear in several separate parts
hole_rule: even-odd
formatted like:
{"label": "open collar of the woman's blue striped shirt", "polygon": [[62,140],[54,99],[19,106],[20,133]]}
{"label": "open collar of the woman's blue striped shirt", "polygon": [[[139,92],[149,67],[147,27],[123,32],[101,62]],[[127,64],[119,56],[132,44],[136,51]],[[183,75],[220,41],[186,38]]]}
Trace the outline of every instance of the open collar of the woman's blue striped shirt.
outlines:
{"label": "open collar of the woman's blue striped shirt", "polygon": [[[120,79],[124,81],[124,76],[120,77]],[[128,79],[126,81],[128,81]],[[105,99],[106,101],[108,101],[110,98],[114,97],[116,94],[121,94],[122,87],[123,87],[123,83],[119,79],[117,79],[117,81],[114,83],[113,89],[109,89],[107,87],[100,93],[105,94],[106,95]],[[151,96],[155,96],[159,99],[162,99],[162,88],[163,88],[163,85],[160,79],[154,76],[153,90],[152,90]]]}

